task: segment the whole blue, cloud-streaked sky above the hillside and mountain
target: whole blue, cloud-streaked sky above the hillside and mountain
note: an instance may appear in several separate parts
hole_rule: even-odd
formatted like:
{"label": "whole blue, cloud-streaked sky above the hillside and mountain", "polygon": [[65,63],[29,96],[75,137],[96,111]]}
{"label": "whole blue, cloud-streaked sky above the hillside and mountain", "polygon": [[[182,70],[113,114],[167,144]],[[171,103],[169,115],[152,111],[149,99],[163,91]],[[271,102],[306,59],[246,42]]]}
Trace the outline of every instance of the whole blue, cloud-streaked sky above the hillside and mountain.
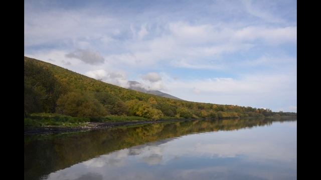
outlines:
{"label": "whole blue, cloud-streaked sky above the hillside and mountain", "polygon": [[179,98],[296,112],[296,0],[25,0],[25,56]]}

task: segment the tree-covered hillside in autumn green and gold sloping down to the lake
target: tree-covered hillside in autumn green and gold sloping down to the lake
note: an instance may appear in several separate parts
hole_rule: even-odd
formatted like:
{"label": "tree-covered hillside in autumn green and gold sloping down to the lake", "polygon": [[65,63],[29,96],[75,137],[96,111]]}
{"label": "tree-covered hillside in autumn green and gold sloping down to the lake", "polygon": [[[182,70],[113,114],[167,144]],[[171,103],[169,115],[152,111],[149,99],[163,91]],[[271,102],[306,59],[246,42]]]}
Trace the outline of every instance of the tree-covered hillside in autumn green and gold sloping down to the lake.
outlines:
{"label": "tree-covered hillside in autumn green and gold sloping down to the lake", "polygon": [[165,116],[242,117],[296,115],[270,109],[221,105],[166,98],[102,82],[66,68],[24,57],[25,116],[47,112],[75,117],[133,115],[149,119]]}

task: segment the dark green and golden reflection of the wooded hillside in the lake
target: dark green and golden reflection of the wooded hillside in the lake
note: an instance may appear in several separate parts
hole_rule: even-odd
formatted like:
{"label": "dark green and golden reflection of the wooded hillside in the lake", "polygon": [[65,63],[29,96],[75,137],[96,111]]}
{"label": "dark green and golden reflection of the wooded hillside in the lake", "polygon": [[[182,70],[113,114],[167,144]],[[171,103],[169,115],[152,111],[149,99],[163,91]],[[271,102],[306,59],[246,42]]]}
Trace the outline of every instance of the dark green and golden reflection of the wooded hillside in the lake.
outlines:
{"label": "dark green and golden reflection of the wooded hillside in the lake", "polygon": [[[271,123],[272,119],[195,120],[26,137],[25,179],[37,179],[95,156],[147,142],[157,145],[192,132],[235,130]],[[154,163],[158,158],[146,160]]]}

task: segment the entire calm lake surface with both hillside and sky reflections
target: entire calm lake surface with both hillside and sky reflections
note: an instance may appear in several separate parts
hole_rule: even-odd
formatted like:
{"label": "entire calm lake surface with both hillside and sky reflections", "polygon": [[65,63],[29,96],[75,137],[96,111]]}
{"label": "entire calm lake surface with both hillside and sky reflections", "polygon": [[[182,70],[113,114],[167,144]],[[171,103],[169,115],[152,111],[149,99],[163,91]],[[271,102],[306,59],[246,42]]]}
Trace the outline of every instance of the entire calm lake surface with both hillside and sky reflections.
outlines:
{"label": "entire calm lake surface with both hillside and sky reflections", "polygon": [[197,120],[26,137],[25,179],[296,178],[296,121],[271,124]]}

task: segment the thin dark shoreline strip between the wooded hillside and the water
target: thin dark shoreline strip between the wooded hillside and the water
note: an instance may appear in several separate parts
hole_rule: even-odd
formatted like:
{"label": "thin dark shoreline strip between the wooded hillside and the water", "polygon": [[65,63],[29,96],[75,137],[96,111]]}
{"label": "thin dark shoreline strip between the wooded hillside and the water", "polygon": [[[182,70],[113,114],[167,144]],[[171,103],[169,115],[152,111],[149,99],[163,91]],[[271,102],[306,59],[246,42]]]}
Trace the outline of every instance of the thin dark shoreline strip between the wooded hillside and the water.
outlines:
{"label": "thin dark shoreline strip between the wooded hillside and the water", "polygon": [[[296,118],[296,116],[280,116],[280,118],[282,117]],[[231,118],[222,118],[222,119],[215,119],[215,120],[223,120],[223,119],[231,119]],[[110,128],[110,127],[118,127],[118,126],[140,125],[140,124],[157,123],[157,122],[175,122],[175,121],[186,121],[186,120],[207,120],[207,119],[206,118],[187,118],[187,119],[174,119],[174,120],[149,120],[149,121],[125,121],[125,122],[88,122],[86,126],[82,126],[82,127],[49,126],[49,127],[25,128],[24,134],[35,135],[35,134],[90,131],[95,129],[103,129],[103,128]]]}

